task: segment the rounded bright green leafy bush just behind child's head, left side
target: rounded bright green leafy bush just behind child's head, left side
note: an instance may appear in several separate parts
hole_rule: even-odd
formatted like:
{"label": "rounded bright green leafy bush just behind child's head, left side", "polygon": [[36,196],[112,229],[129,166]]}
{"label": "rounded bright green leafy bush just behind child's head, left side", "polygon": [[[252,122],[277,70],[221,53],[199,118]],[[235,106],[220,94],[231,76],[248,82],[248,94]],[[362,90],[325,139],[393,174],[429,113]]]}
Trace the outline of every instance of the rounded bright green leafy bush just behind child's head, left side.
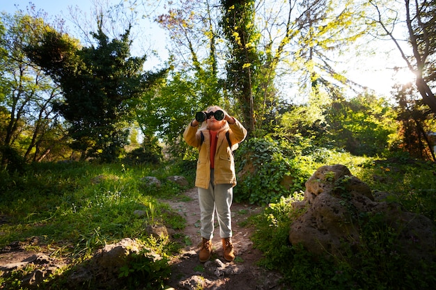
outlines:
{"label": "rounded bright green leafy bush just behind child's head, left side", "polygon": [[[136,118],[145,136],[158,136],[167,146],[171,156],[182,157],[187,152],[187,144],[182,133],[187,124],[194,119],[197,111],[205,110],[212,104],[220,104],[206,79],[198,79],[181,73],[169,72],[171,80],[155,83],[142,95],[141,102],[135,106]],[[212,77],[212,76],[210,76]]]}

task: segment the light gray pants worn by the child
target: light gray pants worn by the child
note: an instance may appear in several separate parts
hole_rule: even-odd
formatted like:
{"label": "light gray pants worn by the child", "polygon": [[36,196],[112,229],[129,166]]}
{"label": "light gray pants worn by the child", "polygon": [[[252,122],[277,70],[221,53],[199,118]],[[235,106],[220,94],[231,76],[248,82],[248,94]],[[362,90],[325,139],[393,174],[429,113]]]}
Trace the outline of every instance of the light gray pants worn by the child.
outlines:
{"label": "light gray pants worn by the child", "polygon": [[214,170],[210,170],[209,188],[198,188],[198,202],[200,203],[201,236],[212,239],[214,231],[215,211],[219,224],[221,239],[232,236],[232,217],[230,207],[233,200],[232,184],[213,184]]}

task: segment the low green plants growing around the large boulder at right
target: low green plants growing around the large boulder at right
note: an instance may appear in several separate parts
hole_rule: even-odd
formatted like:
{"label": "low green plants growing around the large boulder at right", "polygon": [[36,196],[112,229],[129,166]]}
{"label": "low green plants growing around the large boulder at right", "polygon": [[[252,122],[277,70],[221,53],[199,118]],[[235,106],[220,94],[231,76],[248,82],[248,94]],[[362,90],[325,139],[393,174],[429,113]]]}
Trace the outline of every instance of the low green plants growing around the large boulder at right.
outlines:
{"label": "low green plants growing around the large boulder at right", "polygon": [[[359,168],[361,180],[373,190],[388,191],[396,197],[392,201],[400,202],[405,210],[435,221],[434,163],[396,156],[368,160]],[[426,189],[421,191],[421,188]],[[265,254],[260,264],[281,271],[288,287],[295,290],[432,289],[436,281],[435,264],[425,261],[416,264],[400,255],[396,248],[400,233],[377,214],[359,216],[361,243],[356,252],[327,259],[307,252],[300,245],[290,245],[290,223],[304,212],[304,209],[296,211],[292,202],[302,198],[301,193],[281,198],[251,220],[257,229],[254,245]]]}

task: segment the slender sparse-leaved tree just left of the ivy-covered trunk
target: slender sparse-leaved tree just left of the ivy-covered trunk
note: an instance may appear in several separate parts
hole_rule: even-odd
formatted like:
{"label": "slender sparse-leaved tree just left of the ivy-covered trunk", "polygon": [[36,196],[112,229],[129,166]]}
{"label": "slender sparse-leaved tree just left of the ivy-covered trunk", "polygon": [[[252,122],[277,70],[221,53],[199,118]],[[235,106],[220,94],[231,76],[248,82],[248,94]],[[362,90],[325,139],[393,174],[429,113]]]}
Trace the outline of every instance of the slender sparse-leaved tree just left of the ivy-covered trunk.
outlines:
{"label": "slender sparse-leaved tree just left of the ivy-covered trunk", "polygon": [[[171,7],[167,14],[159,15],[157,22],[169,31],[173,50],[171,53],[171,73],[169,83],[180,78],[186,83],[196,83],[192,87],[193,104],[191,115],[205,106],[224,105],[222,80],[219,79],[217,52],[216,16],[210,8],[209,1],[187,0]],[[198,6],[204,6],[198,11]],[[184,80],[182,80],[184,81]],[[172,99],[176,99],[173,95]]]}

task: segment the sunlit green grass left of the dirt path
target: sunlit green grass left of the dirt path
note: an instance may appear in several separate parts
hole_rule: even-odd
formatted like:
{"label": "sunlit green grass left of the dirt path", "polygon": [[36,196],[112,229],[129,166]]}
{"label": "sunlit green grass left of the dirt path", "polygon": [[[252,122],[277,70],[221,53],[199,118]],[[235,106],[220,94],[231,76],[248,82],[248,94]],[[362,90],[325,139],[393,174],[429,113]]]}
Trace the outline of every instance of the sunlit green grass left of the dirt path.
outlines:
{"label": "sunlit green grass left of the dirt path", "polygon": [[[7,220],[0,225],[0,248],[38,237],[40,243],[34,250],[46,246],[54,257],[83,261],[107,243],[132,238],[143,241],[162,257],[170,257],[177,245],[156,241],[145,229],[156,223],[172,229],[185,227],[182,217],[159,202],[186,189],[166,181],[166,177],[178,173],[175,170],[41,163],[32,165],[24,175],[0,172],[0,215]],[[141,181],[145,176],[159,178],[162,187],[146,186]],[[146,215],[137,217],[135,210]],[[7,278],[0,278],[0,283],[8,287],[13,284]]]}

